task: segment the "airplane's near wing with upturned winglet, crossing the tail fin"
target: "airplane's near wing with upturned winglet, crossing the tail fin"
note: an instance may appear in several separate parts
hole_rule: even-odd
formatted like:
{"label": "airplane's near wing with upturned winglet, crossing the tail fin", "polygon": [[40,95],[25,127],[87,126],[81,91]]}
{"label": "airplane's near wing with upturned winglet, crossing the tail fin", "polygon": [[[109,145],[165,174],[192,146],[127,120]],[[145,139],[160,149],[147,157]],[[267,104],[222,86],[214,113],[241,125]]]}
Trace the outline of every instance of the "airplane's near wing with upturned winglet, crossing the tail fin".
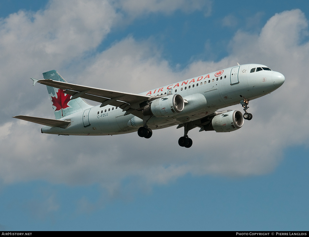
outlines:
{"label": "airplane's near wing with upturned winglet, crossing the tail fin", "polygon": [[138,116],[139,118],[143,118],[142,109],[146,106],[150,101],[155,100],[156,98],[166,96],[146,96],[140,94],[132,94],[125,93],[119,91],[111,91],[94,87],[87,87],[82,85],[76,85],[61,81],[54,80],[37,80],[31,78],[33,80],[33,84],[36,82],[40,84],[44,84],[47,86],[59,88],[65,90],[66,94],[72,95],[72,100],[78,97],[97,101],[102,103],[100,107],[105,105],[112,105],[121,108],[123,111],[126,111],[128,114],[133,114]]}

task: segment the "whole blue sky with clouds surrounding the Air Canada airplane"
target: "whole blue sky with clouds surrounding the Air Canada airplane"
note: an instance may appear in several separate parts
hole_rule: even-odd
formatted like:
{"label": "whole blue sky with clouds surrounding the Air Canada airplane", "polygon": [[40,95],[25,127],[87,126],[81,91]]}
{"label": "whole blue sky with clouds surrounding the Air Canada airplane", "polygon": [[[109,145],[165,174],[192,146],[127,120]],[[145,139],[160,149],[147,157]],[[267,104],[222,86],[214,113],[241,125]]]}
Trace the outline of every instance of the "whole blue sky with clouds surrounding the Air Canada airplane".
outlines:
{"label": "whole blue sky with clouds surrounding the Air Canada airplane", "polygon": [[[146,2],[147,4],[144,4]],[[305,1],[2,1],[0,230],[308,230]],[[239,63],[286,81],[227,134],[66,137],[30,77],[142,92]],[[181,79],[180,79],[181,78]],[[242,111],[240,105],[234,109]],[[150,141],[151,140],[151,141]]]}

